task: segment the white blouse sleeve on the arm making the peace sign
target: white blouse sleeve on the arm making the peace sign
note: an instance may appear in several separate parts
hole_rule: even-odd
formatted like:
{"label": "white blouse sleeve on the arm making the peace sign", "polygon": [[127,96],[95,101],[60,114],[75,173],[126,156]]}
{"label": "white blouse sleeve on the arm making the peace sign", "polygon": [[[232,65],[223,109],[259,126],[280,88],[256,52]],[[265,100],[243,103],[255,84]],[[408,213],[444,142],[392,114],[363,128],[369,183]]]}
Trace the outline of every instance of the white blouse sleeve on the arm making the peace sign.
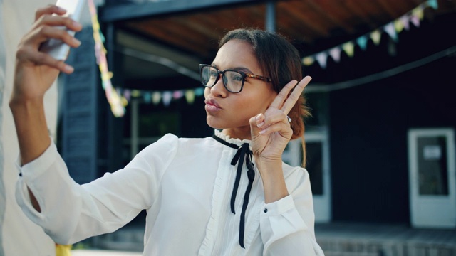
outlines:
{"label": "white blouse sleeve on the arm making the peace sign", "polygon": [[[309,174],[300,169],[286,180],[290,195],[265,204],[259,213],[263,255],[323,255],[314,233]],[[296,184],[290,186],[289,181]]]}

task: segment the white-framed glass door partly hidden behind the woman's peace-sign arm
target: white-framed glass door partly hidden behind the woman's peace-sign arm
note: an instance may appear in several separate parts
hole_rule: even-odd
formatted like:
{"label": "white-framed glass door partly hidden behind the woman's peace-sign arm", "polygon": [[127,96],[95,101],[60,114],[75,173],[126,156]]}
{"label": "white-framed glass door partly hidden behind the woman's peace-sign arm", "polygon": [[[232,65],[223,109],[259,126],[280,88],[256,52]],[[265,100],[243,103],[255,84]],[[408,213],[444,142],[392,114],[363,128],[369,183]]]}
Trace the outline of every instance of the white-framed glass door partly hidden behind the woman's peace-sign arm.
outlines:
{"label": "white-framed glass door partly hidden behind the woman's peace-sign arm", "polygon": [[[331,221],[331,177],[329,166],[329,143],[326,129],[306,132],[306,169],[309,172],[316,223]],[[301,139],[291,141],[282,159],[291,166],[301,166]]]}

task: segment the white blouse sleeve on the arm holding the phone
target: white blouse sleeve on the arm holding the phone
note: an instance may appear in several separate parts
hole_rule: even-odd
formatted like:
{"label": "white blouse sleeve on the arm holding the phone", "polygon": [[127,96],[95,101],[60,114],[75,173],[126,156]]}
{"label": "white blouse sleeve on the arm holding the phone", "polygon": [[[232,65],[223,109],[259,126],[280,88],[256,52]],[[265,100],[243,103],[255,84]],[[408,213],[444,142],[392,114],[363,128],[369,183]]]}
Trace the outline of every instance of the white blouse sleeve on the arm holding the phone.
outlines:
{"label": "white blouse sleeve on the arm holding the phone", "polygon": [[[57,243],[73,244],[93,235],[110,233],[135,218],[154,202],[163,172],[177,151],[177,137],[165,135],[141,151],[124,169],[79,185],[56,146],[19,166],[16,201],[24,213]],[[28,198],[33,192],[41,212]]]}

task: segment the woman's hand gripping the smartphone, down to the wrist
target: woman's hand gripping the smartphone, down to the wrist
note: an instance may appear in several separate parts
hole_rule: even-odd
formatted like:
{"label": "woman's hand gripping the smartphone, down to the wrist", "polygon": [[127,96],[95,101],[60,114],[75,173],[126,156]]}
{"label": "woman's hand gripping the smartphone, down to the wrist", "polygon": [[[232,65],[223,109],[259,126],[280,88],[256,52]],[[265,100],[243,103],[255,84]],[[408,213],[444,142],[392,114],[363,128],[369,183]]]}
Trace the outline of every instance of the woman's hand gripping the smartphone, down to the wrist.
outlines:
{"label": "woman's hand gripping the smartphone, down to the wrist", "polygon": [[56,60],[51,55],[39,51],[41,43],[50,38],[60,39],[71,47],[78,47],[81,44],[66,30],[56,27],[64,26],[72,31],[81,30],[81,24],[72,21],[71,18],[60,16],[65,13],[66,11],[58,6],[47,6],[36,11],[35,23],[21,39],[16,52],[11,103],[41,100],[60,71],[68,74],[73,72],[73,67],[62,60]]}

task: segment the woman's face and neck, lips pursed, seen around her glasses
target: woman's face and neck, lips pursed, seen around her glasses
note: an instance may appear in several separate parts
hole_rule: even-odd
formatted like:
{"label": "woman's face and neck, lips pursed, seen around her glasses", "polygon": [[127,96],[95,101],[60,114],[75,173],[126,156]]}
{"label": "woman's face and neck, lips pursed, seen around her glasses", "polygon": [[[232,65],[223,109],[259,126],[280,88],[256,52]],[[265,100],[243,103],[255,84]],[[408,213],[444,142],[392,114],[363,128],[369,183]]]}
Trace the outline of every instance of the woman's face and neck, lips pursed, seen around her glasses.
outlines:
{"label": "woman's face and neck, lips pursed, seen around her glasses", "polygon": [[[218,70],[241,70],[267,77],[261,71],[252,46],[245,41],[231,40],[225,43],[217,52],[212,66]],[[230,137],[249,139],[249,119],[264,113],[276,95],[270,82],[245,78],[242,91],[232,93],[227,91],[222,78],[219,78],[213,87],[204,90],[207,124],[214,129],[224,129],[224,134]]]}

